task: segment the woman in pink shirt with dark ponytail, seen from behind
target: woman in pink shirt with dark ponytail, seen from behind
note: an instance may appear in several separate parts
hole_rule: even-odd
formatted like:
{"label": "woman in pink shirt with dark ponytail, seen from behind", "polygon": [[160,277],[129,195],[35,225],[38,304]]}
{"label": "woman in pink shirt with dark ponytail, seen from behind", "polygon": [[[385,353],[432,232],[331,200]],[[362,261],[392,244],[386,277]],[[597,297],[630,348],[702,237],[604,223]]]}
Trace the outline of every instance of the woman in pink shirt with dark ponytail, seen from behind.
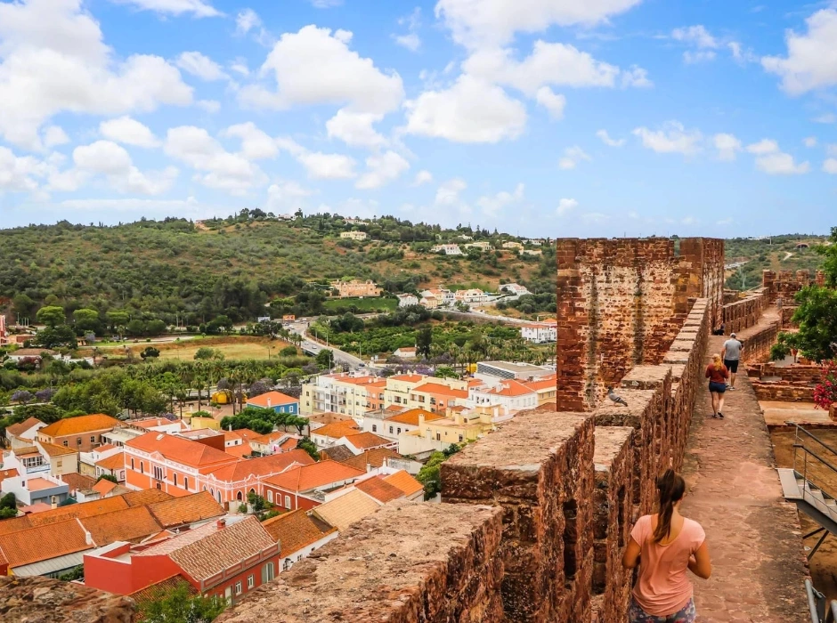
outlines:
{"label": "woman in pink shirt with dark ponytail, seen from behind", "polygon": [[625,569],[639,565],[630,600],[630,623],[693,623],[695,602],[687,570],[707,579],[712,572],[706,535],[679,512],[686,482],[673,469],[657,479],[660,512],[640,517],[622,557]]}

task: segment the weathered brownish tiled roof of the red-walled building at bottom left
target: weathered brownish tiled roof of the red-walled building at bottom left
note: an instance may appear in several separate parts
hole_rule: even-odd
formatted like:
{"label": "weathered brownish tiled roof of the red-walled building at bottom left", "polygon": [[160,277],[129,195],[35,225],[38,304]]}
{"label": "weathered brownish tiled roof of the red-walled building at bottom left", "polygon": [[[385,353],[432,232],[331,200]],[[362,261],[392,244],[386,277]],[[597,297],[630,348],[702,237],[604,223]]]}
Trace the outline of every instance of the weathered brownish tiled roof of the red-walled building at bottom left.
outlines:
{"label": "weathered brownish tiled roof of the red-walled building at bottom left", "polygon": [[209,522],[135,555],[167,555],[191,578],[205,580],[275,546],[258,519],[249,515],[223,528]]}

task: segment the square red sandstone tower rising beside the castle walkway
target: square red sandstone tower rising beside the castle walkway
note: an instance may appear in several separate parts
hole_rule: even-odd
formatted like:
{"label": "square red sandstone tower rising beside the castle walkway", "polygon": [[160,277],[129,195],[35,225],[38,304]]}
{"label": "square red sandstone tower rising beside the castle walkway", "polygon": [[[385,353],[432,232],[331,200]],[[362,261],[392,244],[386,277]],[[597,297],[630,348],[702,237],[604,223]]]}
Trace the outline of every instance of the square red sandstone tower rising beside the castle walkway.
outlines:
{"label": "square red sandstone tower rising beside the castle walkway", "polygon": [[630,368],[659,363],[690,301],[724,301],[723,241],[557,240],[557,409],[589,410]]}

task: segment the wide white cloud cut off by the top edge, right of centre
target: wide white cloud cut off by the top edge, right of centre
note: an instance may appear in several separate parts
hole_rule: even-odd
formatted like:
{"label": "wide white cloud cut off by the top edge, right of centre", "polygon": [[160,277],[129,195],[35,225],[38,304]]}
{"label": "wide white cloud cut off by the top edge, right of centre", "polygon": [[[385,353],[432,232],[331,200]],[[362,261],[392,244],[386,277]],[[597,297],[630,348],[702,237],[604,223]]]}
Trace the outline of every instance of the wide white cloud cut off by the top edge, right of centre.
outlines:
{"label": "wide white cloud cut off by the top edge, right of centre", "polygon": [[625,12],[640,0],[439,0],[436,17],[459,44],[503,44],[516,32],[541,32],[552,25],[594,25]]}

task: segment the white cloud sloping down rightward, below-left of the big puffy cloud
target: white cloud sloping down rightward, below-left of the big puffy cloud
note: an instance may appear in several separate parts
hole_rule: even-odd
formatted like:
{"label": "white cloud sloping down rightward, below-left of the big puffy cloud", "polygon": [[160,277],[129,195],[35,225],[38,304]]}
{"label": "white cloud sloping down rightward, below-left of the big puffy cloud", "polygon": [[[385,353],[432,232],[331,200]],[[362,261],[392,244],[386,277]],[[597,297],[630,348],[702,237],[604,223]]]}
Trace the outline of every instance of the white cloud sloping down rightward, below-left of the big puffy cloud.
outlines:
{"label": "white cloud sloping down rightward, below-left of the big puffy cloud", "polygon": [[265,180],[262,171],[247,158],[224,150],[206,130],[194,125],[169,129],[164,150],[169,157],[202,172],[195,179],[208,188],[242,194]]}

